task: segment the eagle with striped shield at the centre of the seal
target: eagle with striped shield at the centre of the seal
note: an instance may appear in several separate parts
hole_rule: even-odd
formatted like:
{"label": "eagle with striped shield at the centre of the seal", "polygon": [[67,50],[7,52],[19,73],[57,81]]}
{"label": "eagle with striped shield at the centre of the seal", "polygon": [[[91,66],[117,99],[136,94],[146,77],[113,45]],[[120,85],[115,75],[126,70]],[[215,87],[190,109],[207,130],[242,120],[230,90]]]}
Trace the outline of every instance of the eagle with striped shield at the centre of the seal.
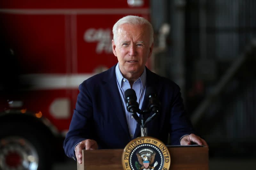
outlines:
{"label": "eagle with striped shield at the centre of the seal", "polygon": [[156,161],[154,163],[154,166],[152,166],[156,152],[154,152],[151,149],[142,149],[136,153],[138,157],[138,161],[140,165],[137,163],[137,169],[138,170],[154,170],[154,168],[157,166],[158,162]]}

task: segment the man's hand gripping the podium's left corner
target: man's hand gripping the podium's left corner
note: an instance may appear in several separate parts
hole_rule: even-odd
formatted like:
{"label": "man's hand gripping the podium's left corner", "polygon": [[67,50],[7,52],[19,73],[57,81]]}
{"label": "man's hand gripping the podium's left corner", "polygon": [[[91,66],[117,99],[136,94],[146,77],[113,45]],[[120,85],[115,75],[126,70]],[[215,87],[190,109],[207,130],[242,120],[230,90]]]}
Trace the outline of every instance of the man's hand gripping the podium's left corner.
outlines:
{"label": "man's hand gripping the podium's left corner", "polygon": [[79,164],[82,164],[82,150],[95,150],[98,149],[98,144],[95,140],[92,139],[86,139],[80,144],[76,145],[75,151],[76,151],[76,159]]}

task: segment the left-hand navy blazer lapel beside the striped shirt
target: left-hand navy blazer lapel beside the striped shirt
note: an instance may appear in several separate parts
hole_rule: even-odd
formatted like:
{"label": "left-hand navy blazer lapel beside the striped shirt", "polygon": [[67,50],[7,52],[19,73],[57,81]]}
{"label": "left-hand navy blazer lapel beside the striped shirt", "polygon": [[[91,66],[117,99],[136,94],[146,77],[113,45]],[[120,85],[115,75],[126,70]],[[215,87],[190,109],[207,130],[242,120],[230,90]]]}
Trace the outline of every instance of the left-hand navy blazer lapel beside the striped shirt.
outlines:
{"label": "left-hand navy blazer lapel beside the striped shirt", "polygon": [[108,76],[103,80],[106,82],[106,91],[109,97],[112,97],[113,100],[110,103],[109,109],[112,110],[114,116],[116,116],[119,120],[119,123],[124,129],[124,132],[127,136],[130,137],[128,124],[125,117],[125,112],[123,108],[123,104],[121,102],[121,96],[118,91],[118,86],[116,83],[116,72],[115,72],[116,65],[109,69]]}

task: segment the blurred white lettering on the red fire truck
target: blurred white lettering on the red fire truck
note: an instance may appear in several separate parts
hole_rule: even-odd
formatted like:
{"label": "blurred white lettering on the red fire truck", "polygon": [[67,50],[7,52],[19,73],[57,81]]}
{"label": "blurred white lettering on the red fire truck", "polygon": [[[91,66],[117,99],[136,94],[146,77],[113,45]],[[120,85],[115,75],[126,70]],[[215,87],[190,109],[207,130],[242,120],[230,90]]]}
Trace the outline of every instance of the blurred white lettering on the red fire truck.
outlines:
{"label": "blurred white lettering on the red fire truck", "polygon": [[100,54],[103,51],[105,53],[112,53],[112,33],[109,28],[95,29],[89,28],[84,32],[85,42],[98,42],[96,46],[96,53]]}

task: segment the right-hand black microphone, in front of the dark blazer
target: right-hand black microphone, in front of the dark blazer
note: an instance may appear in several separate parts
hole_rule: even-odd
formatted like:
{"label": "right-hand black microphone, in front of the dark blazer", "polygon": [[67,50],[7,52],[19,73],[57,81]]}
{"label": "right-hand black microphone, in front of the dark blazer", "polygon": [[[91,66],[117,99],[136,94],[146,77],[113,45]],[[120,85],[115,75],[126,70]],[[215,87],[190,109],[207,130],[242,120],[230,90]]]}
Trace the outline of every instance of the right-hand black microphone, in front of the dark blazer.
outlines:
{"label": "right-hand black microphone, in front of the dark blazer", "polygon": [[153,115],[148,117],[145,124],[153,119],[159,112],[160,102],[156,94],[156,90],[153,87],[148,87],[145,92],[145,96],[148,97],[149,104],[148,109],[153,112]]}

